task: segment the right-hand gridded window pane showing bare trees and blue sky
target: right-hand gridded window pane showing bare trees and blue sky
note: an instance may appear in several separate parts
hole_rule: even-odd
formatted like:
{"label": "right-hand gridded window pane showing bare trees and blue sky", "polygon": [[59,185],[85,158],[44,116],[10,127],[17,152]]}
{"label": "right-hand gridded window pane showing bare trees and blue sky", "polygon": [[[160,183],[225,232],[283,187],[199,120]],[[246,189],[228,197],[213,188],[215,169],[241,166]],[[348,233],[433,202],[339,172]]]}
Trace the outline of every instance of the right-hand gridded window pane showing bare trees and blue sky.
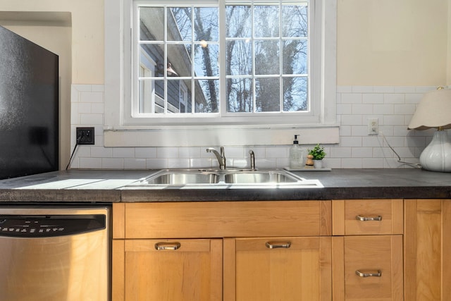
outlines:
{"label": "right-hand gridded window pane showing bare trees and blue sky", "polygon": [[307,16],[307,3],[226,5],[229,113],[309,111]]}

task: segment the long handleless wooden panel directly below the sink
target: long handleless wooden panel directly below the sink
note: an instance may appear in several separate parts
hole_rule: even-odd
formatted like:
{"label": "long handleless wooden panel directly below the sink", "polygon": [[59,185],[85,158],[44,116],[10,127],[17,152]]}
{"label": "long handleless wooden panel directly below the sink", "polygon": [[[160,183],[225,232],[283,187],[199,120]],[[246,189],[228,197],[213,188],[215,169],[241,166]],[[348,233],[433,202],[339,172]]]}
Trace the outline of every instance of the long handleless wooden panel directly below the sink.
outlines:
{"label": "long handleless wooden panel directly below the sink", "polygon": [[127,203],[124,232],[125,238],[330,235],[330,220],[330,201]]}

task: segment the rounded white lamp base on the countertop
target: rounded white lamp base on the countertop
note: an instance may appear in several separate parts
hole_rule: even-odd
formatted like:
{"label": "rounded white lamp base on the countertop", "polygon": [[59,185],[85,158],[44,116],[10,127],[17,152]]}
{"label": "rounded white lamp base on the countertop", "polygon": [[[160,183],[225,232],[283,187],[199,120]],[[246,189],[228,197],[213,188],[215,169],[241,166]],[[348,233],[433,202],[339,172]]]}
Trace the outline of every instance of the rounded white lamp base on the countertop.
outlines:
{"label": "rounded white lamp base on the countertop", "polygon": [[431,143],[420,156],[421,168],[428,171],[451,172],[451,140],[445,130],[437,130]]}

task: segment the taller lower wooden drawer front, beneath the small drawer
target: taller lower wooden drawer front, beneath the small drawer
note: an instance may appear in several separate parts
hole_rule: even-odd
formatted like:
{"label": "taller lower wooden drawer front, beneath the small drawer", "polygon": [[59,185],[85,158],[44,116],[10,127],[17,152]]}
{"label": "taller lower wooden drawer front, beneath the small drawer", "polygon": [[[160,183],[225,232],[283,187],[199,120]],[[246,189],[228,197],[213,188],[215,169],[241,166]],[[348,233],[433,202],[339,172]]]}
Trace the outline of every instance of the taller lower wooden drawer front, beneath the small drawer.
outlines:
{"label": "taller lower wooden drawer front, beneath the small drawer", "polygon": [[[345,300],[403,300],[402,235],[345,237]],[[356,271],[381,276],[358,276]]]}

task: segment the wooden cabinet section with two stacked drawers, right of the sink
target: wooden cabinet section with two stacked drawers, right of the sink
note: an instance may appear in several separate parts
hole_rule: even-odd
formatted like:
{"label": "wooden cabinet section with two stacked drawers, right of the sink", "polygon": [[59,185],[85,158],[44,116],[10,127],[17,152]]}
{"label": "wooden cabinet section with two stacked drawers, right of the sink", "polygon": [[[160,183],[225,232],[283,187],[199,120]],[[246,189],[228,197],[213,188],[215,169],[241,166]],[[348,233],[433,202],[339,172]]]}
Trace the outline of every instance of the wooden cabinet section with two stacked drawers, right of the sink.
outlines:
{"label": "wooden cabinet section with two stacked drawers, right of the sink", "polygon": [[333,201],[333,300],[404,300],[402,203]]}

